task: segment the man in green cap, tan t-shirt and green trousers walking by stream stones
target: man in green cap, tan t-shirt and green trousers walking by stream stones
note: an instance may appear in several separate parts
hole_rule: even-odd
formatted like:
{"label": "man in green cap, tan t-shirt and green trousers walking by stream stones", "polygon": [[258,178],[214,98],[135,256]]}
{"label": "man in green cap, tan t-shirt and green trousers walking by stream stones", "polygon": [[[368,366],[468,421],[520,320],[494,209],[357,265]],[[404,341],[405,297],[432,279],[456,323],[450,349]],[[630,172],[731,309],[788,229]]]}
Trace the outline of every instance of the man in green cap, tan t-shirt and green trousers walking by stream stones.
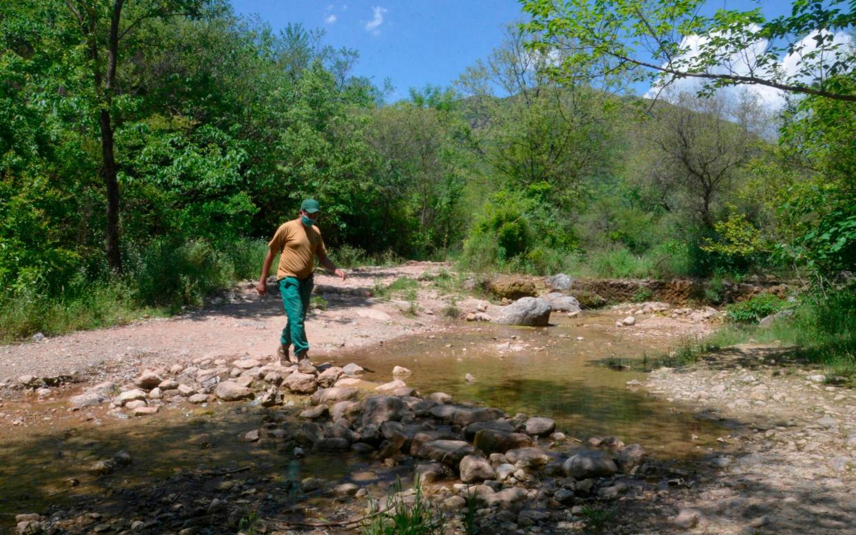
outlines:
{"label": "man in green cap, tan t-shirt and green trousers walking by stream stones", "polygon": [[[300,213],[296,219],[282,223],[268,243],[268,253],[262,264],[262,276],[256,291],[267,293],[267,276],[273,258],[278,253],[279,265],[276,267],[276,283],[282,295],[282,306],[288,322],[282,330],[280,345],[276,350],[282,360],[299,362],[308,358],[309,342],[306,341],[306,310],[309,308],[309,294],[312,293],[312,270],[315,257],[328,271],[345,280],[345,272],[336,267],[327,258],[327,249],[321,238],[321,231],[315,226],[320,214],[318,201],[306,199],[300,203]],[[289,358],[288,348],[294,344],[294,358]]]}

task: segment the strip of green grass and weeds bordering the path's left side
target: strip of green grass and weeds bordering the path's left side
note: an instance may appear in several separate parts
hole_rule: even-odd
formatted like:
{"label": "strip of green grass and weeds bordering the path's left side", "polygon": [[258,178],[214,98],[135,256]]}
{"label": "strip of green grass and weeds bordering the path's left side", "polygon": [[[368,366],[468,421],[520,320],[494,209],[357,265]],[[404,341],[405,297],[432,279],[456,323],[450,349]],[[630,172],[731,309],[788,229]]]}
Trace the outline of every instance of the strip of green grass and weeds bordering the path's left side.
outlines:
{"label": "strip of green grass and weeds bordering the path's left side", "polygon": [[124,255],[125,274],[62,283],[51,295],[39,283],[0,298],[0,342],[37,332],[56,336],[74,330],[128,324],[146,316],[168,316],[205,297],[257,278],[267,253],[265,241],[240,240],[219,246],[206,241],[158,240]]}

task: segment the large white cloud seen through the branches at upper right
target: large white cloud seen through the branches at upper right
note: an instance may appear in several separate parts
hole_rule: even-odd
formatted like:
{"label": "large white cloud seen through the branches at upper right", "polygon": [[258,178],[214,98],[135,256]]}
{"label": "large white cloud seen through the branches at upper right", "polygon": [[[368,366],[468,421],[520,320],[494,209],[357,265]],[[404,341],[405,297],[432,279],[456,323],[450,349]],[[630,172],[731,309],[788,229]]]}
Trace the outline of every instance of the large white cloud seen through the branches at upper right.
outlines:
{"label": "large white cloud seen through the branches at upper right", "polygon": [[[757,30],[758,27],[752,28]],[[772,67],[758,67],[758,56],[761,56],[767,48],[767,40],[761,39],[758,42],[750,45],[743,51],[735,53],[733,56],[728,57],[727,60],[723,61],[719,66],[710,68],[710,73],[715,74],[738,74],[738,75],[748,75],[754,73],[759,78],[770,78],[770,76],[779,72],[782,74],[785,80],[796,81],[800,80],[803,82],[807,82],[811,80],[811,74],[800,74],[800,66],[803,61],[803,58],[809,55],[812,51],[817,49],[817,41],[815,38],[817,37],[817,32],[810,33],[805,36],[805,38],[800,39],[797,45],[794,46],[794,53],[787,54],[782,57],[778,62],[776,62]],[[681,42],[681,48],[687,47],[687,53],[679,58],[679,60],[687,60],[693,58],[693,56],[698,56],[701,49],[704,45],[710,41],[710,38],[700,37],[698,35],[691,35],[683,39]],[[833,44],[835,45],[843,45],[841,47],[841,51],[838,51],[838,54],[846,54],[847,47],[851,47],[853,45],[853,39],[850,38],[849,35],[843,32],[836,33],[833,39]],[[828,63],[835,61],[835,58],[822,57],[815,58],[811,60],[813,64],[819,65],[822,63]],[[697,92],[701,89],[701,86],[704,85],[704,79],[698,78],[681,78],[678,80],[674,80],[671,83],[671,86],[674,87],[675,91],[672,94],[677,94],[682,91],[693,91]],[[659,92],[660,87],[655,85],[651,86],[651,89],[648,92],[645,92],[646,98],[653,98]],[[769,86],[758,86],[758,85],[742,85],[742,86],[727,86],[719,89],[720,92],[739,92],[739,91],[748,91],[752,92],[758,96],[761,102],[770,107],[772,110],[779,110],[785,104],[785,92],[776,89],[774,87]]]}

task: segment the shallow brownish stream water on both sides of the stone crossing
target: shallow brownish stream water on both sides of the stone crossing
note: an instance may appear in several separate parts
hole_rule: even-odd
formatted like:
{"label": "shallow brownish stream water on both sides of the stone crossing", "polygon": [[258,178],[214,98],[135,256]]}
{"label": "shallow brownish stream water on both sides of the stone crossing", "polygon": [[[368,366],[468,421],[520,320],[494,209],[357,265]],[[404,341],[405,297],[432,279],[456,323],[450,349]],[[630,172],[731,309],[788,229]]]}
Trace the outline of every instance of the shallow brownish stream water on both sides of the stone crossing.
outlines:
{"label": "shallow brownish stream water on both sides of the stone crossing", "polygon": [[[405,377],[407,384],[425,394],[443,391],[509,415],[547,416],[570,437],[585,441],[592,435],[614,435],[625,443],[641,443],[661,458],[703,455],[706,446],[728,432],[655,400],[645,389],[628,388],[633,378],[645,382],[643,372],[616,372],[603,365],[609,359],[641,360],[663,351],[668,342],[617,329],[615,317],[606,314],[557,321],[539,329],[461,325],[340,354],[334,362],[356,362],[370,371],[364,378],[378,383],[392,379],[393,366],[406,366],[413,371]],[[467,373],[476,378],[474,383],[464,380]],[[285,491],[289,481],[308,476],[366,477],[372,469],[354,456],[308,455],[298,461],[277,451],[275,443],[241,442],[239,437],[258,429],[268,414],[249,404],[181,407],[128,420],[105,415],[104,407],[68,413],[62,400],[7,403],[3,410],[19,407],[38,409],[45,419],[0,437],[0,526],[11,526],[16,513],[43,512],[69,496],[110,500],[116,490],[187,471],[252,467],[245,475],[263,474],[282,482]],[[86,472],[94,461],[120,449],[132,453],[133,465],[103,479]],[[68,479],[80,484],[68,486]]]}

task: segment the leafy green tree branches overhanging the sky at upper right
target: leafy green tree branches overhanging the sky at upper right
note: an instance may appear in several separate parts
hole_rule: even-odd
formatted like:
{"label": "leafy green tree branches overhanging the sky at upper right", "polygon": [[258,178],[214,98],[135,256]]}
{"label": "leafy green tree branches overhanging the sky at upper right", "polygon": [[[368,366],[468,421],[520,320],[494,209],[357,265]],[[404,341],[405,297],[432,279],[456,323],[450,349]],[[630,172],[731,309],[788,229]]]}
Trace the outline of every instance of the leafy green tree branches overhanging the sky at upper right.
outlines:
{"label": "leafy green tree branches overhanging the sky at upper right", "polygon": [[[847,32],[856,12],[846,0],[794,0],[791,13],[767,20],[760,8],[716,9],[705,0],[524,0],[536,51],[562,51],[553,68],[561,80],[634,80],[668,86],[681,78],[703,90],[730,85],[856,101],[841,74],[856,55]],[[852,7],[852,5],[851,5]],[[705,9],[707,8],[707,9]],[[751,53],[746,53],[751,51]],[[788,72],[782,56],[797,58]]]}

